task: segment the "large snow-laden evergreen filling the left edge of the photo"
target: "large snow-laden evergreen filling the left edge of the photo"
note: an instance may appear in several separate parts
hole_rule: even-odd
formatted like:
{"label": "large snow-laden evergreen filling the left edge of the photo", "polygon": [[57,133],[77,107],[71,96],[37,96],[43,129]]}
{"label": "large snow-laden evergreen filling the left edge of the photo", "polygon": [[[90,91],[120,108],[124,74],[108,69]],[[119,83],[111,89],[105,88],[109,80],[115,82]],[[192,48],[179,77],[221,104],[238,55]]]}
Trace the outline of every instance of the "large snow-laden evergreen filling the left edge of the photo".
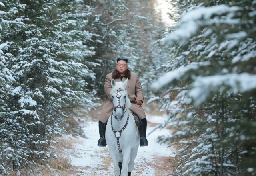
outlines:
{"label": "large snow-laden evergreen filling the left edge of the photo", "polygon": [[[60,3],[59,0],[1,2],[1,46],[8,45],[8,50],[2,49],[1,53],[8,57],[5,63],[1,57],[1,78],[9,69],[16,80],[10,86],[12,92],[1,89],[6,92],[1,98],[5,101],[0,124],[1,174],[8,174],[9,170],[19,172],[24,166],[56,157],[49,146],[56,142],[53,135],[63,130],[67,107],[92,105],[91,92],[85,92],[86,83],[77,78],[81,74],[88,77],[93,74],[78,63],[81,55],[67,54],[72,39],[67,43],[61,40],[68,30],[59,25],[63,21],[54,11]],[[78,50],[74,52],[87,51]],[[83,57],[92,55],[90,49],[88,53]],[[70,58],[71,55],[75,58]],[[8,78],[14,81],[11,76]]]}

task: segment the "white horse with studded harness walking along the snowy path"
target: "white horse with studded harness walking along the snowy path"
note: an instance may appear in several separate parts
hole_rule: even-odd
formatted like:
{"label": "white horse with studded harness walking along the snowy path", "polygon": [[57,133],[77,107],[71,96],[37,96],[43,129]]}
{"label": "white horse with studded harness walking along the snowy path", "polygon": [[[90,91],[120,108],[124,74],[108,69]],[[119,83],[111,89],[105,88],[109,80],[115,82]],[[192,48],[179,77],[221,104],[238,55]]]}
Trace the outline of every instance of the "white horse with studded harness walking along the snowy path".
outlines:
{"label": "white horse with studded harness walking along the snowy path", "polygon": [[140,143],[140,132],[129,110],[131,102],[126,98],[127,82],[128,79],[124,82],[111,80],[110,95],[113,98],[114,110],[106,125],[106,143],[114,162],[116,176],[131,175]]}

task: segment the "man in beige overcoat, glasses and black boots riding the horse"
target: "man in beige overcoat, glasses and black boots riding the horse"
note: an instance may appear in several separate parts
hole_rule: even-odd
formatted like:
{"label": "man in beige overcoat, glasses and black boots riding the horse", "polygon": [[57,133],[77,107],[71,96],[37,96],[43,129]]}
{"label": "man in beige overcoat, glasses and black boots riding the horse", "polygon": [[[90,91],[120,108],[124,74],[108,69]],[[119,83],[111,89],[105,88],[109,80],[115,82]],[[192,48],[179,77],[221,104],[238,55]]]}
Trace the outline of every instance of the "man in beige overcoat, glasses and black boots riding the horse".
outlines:
{"label": "man in beige overcoat, glasses and black boots riding the horse", "polygon": [[118,58],[116,63],[116,69],[106,75],[104,90],[106,95],[108,96],[108,101],[106,102],[103,110],[100,113],[99,117],[99,133],[100,139],[98,140],[98,146],[105,147],[106,139],[105,139],[105,123],[110,117],[113,111],[112,104],[112,96],[110,95],[111,80],[114,79],[116,82],[124,82],[126,79],[128,80],[128,84],[126,86],[126,90],[128,92],[128,98],[132,103],[131,111],[132,113],[138,115],[140,117],[142,123],[142,132],[140,137],[140,146],[147,146],[148,140],[146,139],[146,130],[147,130],[147,119],[146,114],[142,108],[142,103],[144,100],[143,96],[143,88],[141,86],[140,79],[138,75],[134,72],[130,72],[128,69],[128,59]]}

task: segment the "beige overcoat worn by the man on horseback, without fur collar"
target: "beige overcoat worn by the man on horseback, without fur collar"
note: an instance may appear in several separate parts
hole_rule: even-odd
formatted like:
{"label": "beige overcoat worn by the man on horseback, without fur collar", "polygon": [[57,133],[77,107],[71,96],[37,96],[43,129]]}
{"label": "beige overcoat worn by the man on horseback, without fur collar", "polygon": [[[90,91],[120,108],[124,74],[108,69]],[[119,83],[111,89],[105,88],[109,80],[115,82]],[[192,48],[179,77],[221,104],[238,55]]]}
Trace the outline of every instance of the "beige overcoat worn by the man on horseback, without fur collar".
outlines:
{"label": "beige overcoat worn by the man on horseback, without fur collar", "polygon": [[[130,72],[130,73],[131,73],[131,77],[129,78],[126,86],[128,98],[130,101],[142,100],[142,102],[144,102],[143,88],[141,86],[140,79],[136,73],[134,72]],[[124,77],[122,79],[122,82],[124,82],[126,79],[127,78]],[[112,88],[111,80],[112,80],[112,73],[109,73],[106,76],[105,84],[104,84],[104,90],[106,95],[108,96],[108,101],[106,102],[105,106],[100,112],[100,117],[99,117],[99,120],[103,123],[106,123],[106,121],[108,120],[108,118],[110,117],[113,111],[113,103],[111,101],[112,97],[110,96],[110,90]],[[121,81],[120,78],[116,78],[114,80],[116,82]],[[146,118],[146,114],[141,105],[132,103],[131,111],[136,113],[140,117],[140,119]]]}

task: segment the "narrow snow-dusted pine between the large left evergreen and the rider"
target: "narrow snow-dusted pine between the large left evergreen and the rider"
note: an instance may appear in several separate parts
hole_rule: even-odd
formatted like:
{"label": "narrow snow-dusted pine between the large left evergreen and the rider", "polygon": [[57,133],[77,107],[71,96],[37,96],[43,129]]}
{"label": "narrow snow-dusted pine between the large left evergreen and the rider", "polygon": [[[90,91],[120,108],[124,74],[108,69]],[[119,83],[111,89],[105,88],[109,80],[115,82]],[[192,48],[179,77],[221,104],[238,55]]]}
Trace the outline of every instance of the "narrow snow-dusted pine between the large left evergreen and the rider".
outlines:
{"label": "narrow snow-dusted pine between the large left evergreen and the rider", "polygon": [[[94,14],[94,7],[87,5],[86,1],[62,1],[53,10],[54,16],[59,20],[58,28],[62,31],[60,42],[64,46],[64,53],[59,55],[59,60],[66,61],[70,66],[82,63],[81,67],[72,66],[69,73],[73,76],[70,80],[72,90],[83,93],[80,95],[80,106],[88,109],[94,107],[92,100],[95,100],[96,89],[94,86],[95,73],[93,69],[100,64],[93,58],[95,45],[100,41],[100,35],[94,33],[91,25],[98,22],[98,14]],[[62,13],[60,13],[62,12]],[[82,91],[82,92],[81,92]],[[90,92],[90,94],[87,94]],[[69,102],[67,108],[77,106],[77,101]]]}

